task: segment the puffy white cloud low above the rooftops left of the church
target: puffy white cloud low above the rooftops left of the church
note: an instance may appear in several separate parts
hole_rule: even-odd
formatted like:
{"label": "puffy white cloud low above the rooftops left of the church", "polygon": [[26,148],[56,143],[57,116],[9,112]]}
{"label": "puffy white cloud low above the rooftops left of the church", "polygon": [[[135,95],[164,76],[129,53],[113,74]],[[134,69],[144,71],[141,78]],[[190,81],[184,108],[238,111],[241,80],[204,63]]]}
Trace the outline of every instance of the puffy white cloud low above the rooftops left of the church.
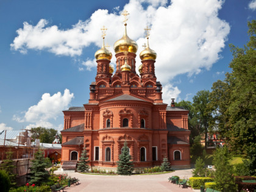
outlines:
{"label": "puffy white cloud low above the rooftops left of the church", "polygon": [[30,127],[48,127],[52,128],[53,124],[49,123],[49,120],[56,119],[62,114],[62,110],[68,108],[71,100],[74,98],[74,94],[70,93],[68,89],[65,89],[63,95],[58,92],[52,96],[49,93],[44,93],[41,100],[37,105],[29,107],[23,118],[13,115],[13,120],[18,122],[30,122],[27,128]]}

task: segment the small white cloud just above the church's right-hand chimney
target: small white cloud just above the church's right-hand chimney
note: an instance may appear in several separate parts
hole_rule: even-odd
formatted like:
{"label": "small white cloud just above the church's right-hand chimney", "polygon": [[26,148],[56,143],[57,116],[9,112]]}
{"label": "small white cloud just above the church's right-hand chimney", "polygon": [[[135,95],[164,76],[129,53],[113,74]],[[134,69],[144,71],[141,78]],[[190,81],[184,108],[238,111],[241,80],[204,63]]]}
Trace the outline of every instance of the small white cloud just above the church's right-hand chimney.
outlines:
{"label": "small white cloud just above the church's right-hand chimney", "polygon": [[174,87],[171,84],[164,85],[162,91],[163,102],[166,104],[170,104],[172,98],[176,99],[177,101],[179,99],[179,94],[181,93],[178,87]]}

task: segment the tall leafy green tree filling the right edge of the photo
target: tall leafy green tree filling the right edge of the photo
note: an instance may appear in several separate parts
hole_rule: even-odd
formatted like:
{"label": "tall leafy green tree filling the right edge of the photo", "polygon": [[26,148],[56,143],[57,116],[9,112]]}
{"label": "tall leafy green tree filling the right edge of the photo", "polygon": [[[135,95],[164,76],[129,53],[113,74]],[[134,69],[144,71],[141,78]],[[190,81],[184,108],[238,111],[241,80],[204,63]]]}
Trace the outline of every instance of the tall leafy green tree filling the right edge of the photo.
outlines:
{"label": "tall leafy green tree filling the right edge of the photo", "polygon": [[215,111],[212,126],[218,127],[236,153],[248,151],[256,140],[256,21],[248,22],[248,27],[250,41],[244,48],[230,44],[232,72],[213,84],[210,95]]}

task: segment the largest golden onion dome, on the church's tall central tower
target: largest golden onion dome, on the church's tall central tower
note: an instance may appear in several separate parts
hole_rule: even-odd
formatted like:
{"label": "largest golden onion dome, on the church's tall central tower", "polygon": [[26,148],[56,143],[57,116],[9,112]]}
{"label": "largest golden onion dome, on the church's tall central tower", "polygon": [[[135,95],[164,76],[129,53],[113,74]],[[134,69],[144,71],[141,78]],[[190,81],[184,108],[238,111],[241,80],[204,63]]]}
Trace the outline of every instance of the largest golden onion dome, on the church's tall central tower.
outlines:
{"label": "largest golden onion dome, on the church's tall central tower", "polygon": [[126,24],[124,24],[124,26],[124,35],[121,39],[115,42],[114,50],[116,53],[126,51],[136,53],[138,49],[138,44],[128,37],[126,32]]}

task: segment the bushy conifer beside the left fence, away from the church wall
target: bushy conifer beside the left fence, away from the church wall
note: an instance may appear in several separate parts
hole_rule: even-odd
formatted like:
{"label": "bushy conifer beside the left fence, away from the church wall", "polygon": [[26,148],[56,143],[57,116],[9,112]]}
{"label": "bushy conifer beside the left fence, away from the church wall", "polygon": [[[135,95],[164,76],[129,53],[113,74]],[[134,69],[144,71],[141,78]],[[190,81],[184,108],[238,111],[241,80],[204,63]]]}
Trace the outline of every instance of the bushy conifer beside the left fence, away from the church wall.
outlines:
{"label": "bushy conifer beside the left fence, away from the church wall", "polygon": [[43,151],[38,150],[35,153],[35,159],[32,160],[32,166],[30,168],[30,184],[41,185],[48,182],[50,174],[46,171],[47,163],[43,157]]}

